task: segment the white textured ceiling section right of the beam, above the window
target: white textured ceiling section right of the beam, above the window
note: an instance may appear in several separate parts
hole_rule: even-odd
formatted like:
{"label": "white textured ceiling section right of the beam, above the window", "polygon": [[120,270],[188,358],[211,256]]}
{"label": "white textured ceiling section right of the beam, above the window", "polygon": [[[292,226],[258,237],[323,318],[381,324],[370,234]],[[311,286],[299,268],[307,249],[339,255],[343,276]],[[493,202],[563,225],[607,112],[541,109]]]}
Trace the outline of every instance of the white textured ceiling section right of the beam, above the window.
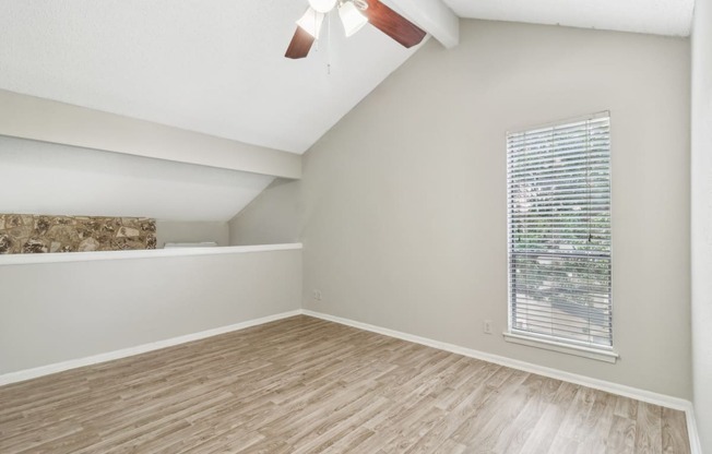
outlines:
{"label": "white textured ceiling section right of the beam, above the window", "polygon": [[689,36],[695,0],[443,0],[460,17]]}

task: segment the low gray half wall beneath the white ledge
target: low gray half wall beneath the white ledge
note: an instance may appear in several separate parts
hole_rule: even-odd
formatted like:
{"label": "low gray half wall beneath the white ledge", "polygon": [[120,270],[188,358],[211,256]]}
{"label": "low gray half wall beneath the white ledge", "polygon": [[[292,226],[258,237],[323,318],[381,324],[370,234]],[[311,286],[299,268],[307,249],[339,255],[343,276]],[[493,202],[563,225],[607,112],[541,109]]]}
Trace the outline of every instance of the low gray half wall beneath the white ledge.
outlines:
{"label": "low gray half wall beneath the white ledge", "polygon": [[301,251],[0,265],[0,283],[3,374],[299,309]]}

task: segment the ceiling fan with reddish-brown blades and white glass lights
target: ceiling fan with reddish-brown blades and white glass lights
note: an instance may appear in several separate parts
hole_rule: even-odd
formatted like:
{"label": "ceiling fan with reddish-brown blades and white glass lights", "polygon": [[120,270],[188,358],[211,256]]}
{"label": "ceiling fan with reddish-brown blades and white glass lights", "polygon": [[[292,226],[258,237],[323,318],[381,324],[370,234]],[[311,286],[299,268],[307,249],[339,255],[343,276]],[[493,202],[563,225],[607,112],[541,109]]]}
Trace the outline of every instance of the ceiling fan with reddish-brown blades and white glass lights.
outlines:
{"label": "ceiling fan with reddish-brown blades and white glass lights", "polygon": [[368,22],[404,47],[415,46],[426,34],[379,0],[309,0],[309,9],[297,21],[297,29],[284,56],[293,59],[307,57],[319,37],[324,17],[334,8],[339,8],[346,36],[358,32]]}

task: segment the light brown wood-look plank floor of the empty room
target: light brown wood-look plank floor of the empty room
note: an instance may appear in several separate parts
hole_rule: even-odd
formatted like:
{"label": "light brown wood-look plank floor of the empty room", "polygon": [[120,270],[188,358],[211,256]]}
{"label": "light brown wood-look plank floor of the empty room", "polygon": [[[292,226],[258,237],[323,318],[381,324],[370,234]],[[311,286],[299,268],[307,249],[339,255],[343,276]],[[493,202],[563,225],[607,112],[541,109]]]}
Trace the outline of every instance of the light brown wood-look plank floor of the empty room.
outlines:
{"label": "light brown wood-look plank floor of the empty room", "polygon": [[688,453],[685,415],[308,316],[0,387],[0,453]]}

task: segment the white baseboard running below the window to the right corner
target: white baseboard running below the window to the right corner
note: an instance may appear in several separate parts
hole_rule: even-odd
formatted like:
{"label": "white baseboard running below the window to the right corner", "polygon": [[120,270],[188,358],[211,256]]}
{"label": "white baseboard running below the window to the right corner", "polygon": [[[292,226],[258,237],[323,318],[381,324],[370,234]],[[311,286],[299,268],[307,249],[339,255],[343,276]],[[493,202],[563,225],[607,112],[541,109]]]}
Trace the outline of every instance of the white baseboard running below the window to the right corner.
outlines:
{"label": "white baseboard running below the window to the right corner", "polygon": [[520,361],[499,355],[487,354],[484,351],[475,350],[472,348],[461,347],[454,344],[448,344],[440,340],[429,339],[413,334],[402,333],[400,331],[389,330],[381,326],[371,325],[368,323],[356,322],[341,316],[330,315],[311,310],[302,310],[305,315],[313,316],[317,319],[327,320],[330,322],[340,323],[347,326],[357,327],[359,330],[370,331],[372,333],[383,334],[385,336],[395,337],[399,339],[413,342],[416,344],[425,345],[428,347],[438,348],[440,350],[450,351],[453,354],[466,356],[470,358],[480,359],[496,365],[506,366],[513,369],[523,370],[538,375],[548,377],[550,379],[562,380],[570,383],[580,384],[595,390],[605,391],[607,393],[617,394],[625,397],[634,398],[637,401],[646,402],[649,404],[660,405],[667,408],[685,411],[687,419],[688,434],[690,438],[690,447],[692,454],[702,454],[697,432],[697,425],[695,421],[695,410],[692,403],[679,397],[673,397],[665,394],[653,393],[651,391],[639,390],[632,386],[626,386],[618,383],[608,382],[605,380],[593,379],[591,377],[579,375],[577,373],[566,372],[558,369],[551,369],[544,366],[534,365],[531,362]]}

